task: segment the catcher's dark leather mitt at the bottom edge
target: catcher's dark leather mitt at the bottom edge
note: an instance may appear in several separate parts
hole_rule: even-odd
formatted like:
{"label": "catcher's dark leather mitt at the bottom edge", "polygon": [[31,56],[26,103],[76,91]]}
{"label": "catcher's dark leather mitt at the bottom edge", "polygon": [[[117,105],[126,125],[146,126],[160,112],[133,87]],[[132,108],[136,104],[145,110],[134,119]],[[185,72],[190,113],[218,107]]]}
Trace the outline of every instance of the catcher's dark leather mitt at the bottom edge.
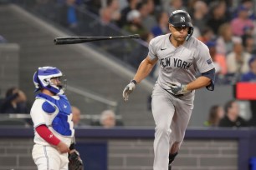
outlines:
{"label": "catcher's dark leather mitt at the bottom edge", "polygon": [[84,170],[83,161],[77,150],[74,150],[73,153],[69,153],[69,170]]}

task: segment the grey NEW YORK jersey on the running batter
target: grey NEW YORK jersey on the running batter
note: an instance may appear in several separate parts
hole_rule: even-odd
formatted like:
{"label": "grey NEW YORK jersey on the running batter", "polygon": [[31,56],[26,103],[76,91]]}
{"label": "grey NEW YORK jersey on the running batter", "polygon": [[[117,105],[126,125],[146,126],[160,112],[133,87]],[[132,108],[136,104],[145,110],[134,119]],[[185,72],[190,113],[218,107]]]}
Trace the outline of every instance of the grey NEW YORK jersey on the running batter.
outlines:
{"label": "grey NEW YORK jersey on the running batter", "polygon": [[209,49],[195,37],[179,47],[169,40],[171,33],[151,39],[148,56],[160,62],[157,83],[167,89],[167,82],[187,84],[196,79],[197,70],[207,72],[214,68]]}

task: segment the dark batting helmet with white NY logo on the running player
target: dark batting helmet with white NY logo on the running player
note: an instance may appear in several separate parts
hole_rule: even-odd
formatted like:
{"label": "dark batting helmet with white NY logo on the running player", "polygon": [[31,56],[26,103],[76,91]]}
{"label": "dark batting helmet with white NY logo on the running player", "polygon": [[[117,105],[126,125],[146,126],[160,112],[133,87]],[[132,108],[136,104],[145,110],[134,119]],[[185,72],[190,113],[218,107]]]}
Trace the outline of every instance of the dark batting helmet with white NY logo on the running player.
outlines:
{"label": "dark batting helmet with white NY logo on the running player", "polygon": [[172,12],[168,23],[170,23],[173,27],[188,27],[188,35],[186,40],[192,36],[193,33],[193,26],[192,26],[192,19],[186,11],[177,10]]}

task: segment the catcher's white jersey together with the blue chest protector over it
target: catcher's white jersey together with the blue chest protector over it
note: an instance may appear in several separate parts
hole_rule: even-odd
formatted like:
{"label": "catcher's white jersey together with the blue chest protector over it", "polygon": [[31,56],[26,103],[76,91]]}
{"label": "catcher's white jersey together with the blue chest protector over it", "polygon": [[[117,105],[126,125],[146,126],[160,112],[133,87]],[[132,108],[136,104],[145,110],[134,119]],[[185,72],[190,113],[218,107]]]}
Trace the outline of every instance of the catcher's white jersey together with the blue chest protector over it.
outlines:
{"label": "catcher's white jersey together with the blue chest protector over it", "polygon": [[[38,94],[36,100],[33,102],[30,111],[33,120],[33,128],[45,124],[49,130],[59,138],[59,140],[69,146],[74,137],[74,123],[72,122],[69,101],[64,95],[64,97],[44,96],[47,95],[44,95],[43,93]],[[49,143],[44,141],[36,131],[34,133],[34,143],[49,145]]]}

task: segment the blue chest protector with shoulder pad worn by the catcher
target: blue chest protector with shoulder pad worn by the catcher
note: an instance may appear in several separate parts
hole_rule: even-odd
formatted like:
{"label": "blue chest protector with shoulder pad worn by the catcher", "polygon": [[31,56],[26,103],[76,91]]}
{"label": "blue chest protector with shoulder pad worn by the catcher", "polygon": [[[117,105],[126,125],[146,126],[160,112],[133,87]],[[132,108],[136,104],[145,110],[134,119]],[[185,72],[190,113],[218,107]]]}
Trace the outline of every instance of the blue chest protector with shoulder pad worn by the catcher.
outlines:
{"label": "blue chest protector with shoulder pad worn by the catcher", "polygon": [[71,106],[68,98],[65,95],[59,95],[59,100],[56,100],[54,97],[50,97],[44,93],[38,93],[37,97],[44,98],[46,100],[42,106],[44,112],[48,112],[49,114],[55,112],[56,108],[49,102],[54,103],[54,105],[59,108],[59,112],[52,122],[52,127],[61,135],[71,136],[72,130],[70,129],[68,119],[68,116],[71,114]]}

